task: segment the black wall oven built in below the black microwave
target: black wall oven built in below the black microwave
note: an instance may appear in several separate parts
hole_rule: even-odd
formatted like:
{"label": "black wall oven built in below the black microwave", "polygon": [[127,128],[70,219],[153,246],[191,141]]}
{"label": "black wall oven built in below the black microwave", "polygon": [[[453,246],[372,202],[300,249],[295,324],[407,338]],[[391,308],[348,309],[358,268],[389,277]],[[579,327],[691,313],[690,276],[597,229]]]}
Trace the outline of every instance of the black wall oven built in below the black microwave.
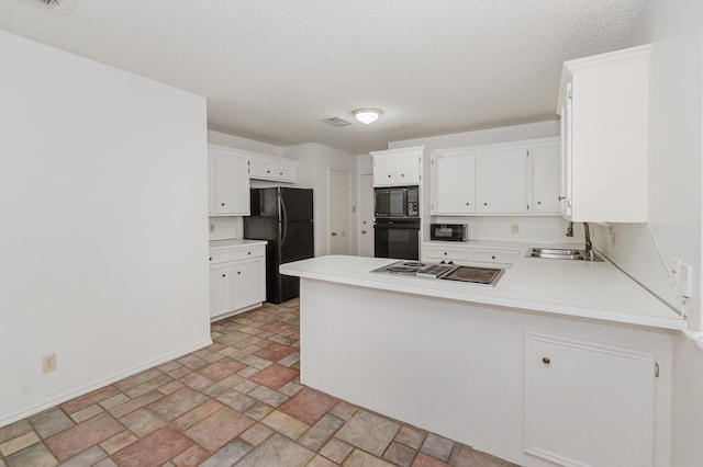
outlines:
{"label": "black wall oven built in below the black microwave", "polygon": [[420,260],[420,219],[376,219],[373,252],[376,258]]}

